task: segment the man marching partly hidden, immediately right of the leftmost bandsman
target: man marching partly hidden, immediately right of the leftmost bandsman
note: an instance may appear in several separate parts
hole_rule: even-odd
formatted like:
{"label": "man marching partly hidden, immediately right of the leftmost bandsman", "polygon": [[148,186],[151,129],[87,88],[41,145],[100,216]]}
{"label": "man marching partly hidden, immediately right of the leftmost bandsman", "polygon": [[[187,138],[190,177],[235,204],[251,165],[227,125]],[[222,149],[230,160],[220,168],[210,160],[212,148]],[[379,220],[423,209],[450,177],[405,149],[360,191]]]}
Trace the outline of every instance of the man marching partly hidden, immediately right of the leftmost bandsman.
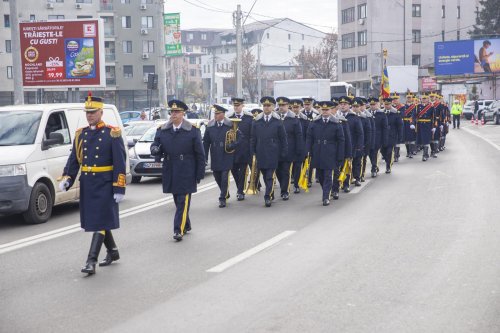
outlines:
{"label": "man marching partly hidden, immediately right of the leftmost bandsman", "polygon": [[250,155],[250,131],[252,130],[254,115],[250,112],[243,111],[244,101],[243,98],[233,97],[231,102],[233,103],[234,112],[227,116],[230,119],[241,119],[238,125],[238,131],[241,132],[241,137],[238,140],[238,147],[236,147],[236,151],[234,152],[234,163],[231,169],[236,188],[238,189],[236,195],[238,201],[245,200],[244,190],[247,169],[252,163],[252,156]]}

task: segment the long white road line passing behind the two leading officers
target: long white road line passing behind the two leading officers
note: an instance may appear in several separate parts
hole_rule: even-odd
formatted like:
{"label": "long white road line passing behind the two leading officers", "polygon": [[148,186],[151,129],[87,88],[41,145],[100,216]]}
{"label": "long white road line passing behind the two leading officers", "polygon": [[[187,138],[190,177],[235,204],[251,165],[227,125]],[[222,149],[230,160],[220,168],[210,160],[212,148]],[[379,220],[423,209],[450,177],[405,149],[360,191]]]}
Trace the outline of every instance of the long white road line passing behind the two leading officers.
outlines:
{"label": "long white road line passing behind the two leading officers", "polygon": [[[199,193],[203,193],[205,191],[211,190],[213,188],[216,188],[217,184],[215,182],[210,182],[207,183],[203,186],[200,186],[198,188],[198,192],[193,193],[193,195],[197,195]],[[162,198],[158,199],[149,203],[145,203],[142,205],[138,205],[132,208],[124,209],[120,212],[120,218],[125,218],[128,216],[136,215],[142,212],[145,212],[147,210],[151,210],[154,208],[158,208],[164,205],[167,205],[171,202],[173,202],[174,199],[172,196],[169,196],[167,198]],[[72,225],[69,225],[67,227],[59,228],[56,230],[52,230],[49,232],[44,232],[42,234],[18,239],[16,241],[10,242],[10,243],[5,243],[5,244],[0,244],[0,254],[4,254],[7,252],[11,252],[14,250],[22,249],[24,247],[28,247],[37,243],[45,242],[54,238],[62,237],[65,235],[69,235],[75,232],[80,231],[80,223],[75,223]]]}

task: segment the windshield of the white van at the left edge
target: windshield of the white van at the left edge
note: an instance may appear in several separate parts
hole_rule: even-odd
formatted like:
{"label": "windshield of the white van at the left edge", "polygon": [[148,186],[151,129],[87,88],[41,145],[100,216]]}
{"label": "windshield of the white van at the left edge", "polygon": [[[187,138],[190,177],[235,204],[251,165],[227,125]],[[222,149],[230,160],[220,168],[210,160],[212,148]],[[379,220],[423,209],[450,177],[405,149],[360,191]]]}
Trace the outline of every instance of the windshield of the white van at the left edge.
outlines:
{"label": "windshield of the white van at the left edge", "polygon": [[0,146],[33,144],[40,119],[42,111],[0,112]]}

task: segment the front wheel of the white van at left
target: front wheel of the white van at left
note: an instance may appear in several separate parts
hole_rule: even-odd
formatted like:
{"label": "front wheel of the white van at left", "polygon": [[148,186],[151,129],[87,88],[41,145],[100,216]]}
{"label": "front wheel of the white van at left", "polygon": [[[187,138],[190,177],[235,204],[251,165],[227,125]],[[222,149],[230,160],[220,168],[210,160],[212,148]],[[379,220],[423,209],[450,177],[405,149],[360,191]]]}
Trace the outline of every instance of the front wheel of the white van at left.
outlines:
{"label": "front wheel of the white van at left", "polygon": [[28,210],[23,213],[26,223],[39,224],[45,223],[52,215],[52,195],[44,183],[36,183],[31,191]]}

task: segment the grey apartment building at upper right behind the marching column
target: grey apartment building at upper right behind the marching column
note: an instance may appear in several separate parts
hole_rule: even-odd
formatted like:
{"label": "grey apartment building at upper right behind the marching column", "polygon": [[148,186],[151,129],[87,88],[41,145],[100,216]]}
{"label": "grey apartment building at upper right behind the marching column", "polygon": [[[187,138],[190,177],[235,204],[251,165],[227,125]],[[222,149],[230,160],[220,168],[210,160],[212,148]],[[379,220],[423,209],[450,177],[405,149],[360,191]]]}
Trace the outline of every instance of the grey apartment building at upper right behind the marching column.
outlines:
{"label": "grey apartment building at upper right behind the marching column", "polygon": [[[387,65],[433,68],[434,42],[470,39],[479,0],[339,0],[339,81],[358,95],[374,94]],[[389,78],[390,79],[390,78]]]}

